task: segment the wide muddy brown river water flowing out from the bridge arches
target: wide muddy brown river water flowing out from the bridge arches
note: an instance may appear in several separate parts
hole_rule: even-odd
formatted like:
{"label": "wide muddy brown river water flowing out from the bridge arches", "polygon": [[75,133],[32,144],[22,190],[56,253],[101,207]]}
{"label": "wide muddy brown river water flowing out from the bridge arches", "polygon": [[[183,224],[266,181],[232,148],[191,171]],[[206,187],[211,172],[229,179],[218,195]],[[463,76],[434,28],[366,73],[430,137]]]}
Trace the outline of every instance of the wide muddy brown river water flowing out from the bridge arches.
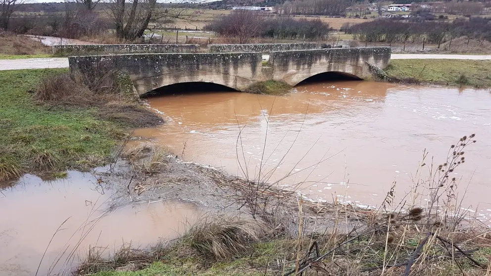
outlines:
{"label": "wide muddy brown river water flowing out from the bridge arches", "polygon": [[459,196],[470,183],[463,205],[489,220],[489,91],[363,81],[295,88],[280,97],[169,88],[170,95],[148,99],[167,124],[135,135],[170,145],[185,160],[296,184],[312,198],[378,206],[394,181],[400,197],[410,190],[425,148],[426,162],[435,156],[439,165],[451,144],[475,133],[478,142],[454,174],[461,178]]}

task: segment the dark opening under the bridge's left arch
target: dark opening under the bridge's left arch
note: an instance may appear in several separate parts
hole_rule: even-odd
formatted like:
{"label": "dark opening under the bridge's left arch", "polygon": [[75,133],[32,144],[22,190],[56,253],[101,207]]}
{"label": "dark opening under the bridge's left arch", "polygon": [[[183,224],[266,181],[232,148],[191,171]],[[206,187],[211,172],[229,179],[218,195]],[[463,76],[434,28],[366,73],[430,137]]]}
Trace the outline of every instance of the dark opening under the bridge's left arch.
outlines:
{"label": "dark opening under the bridge's left arch", "polygon": [[166,85],[145,94],[141,97],[151,97],[151,96],[162,96],[162,95],[179,95],[179,94],[189,94],[189,93],[203,93],[203,92],[237,92],[237,90],[214,83],[205,82],[189,82],[189,83],[178,83],[172,85]]}

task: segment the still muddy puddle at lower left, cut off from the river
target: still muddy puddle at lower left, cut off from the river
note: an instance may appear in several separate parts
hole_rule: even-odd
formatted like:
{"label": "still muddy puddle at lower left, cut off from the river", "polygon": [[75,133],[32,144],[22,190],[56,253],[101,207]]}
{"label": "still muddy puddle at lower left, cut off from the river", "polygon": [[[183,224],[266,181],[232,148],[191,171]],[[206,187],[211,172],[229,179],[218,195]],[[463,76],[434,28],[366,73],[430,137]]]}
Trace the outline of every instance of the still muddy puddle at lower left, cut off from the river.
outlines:
{"label": "still muddy puddle at lower left, cut off from the river", "polygon": [[[145,247],[159,238],[175,238],[204,213],[193,204],[178,201],[111,208],[117,200],[97,178],[79,172],[50,182],[26,175],[14,187],[2,190],[0,275],[35,275],[58,228],[38,275],[48,275],[58,259],[52,274],[66,272],[91,246],[107,248],[107,255],[123,243]],[[72,251],[73,262],[66,264]]]}

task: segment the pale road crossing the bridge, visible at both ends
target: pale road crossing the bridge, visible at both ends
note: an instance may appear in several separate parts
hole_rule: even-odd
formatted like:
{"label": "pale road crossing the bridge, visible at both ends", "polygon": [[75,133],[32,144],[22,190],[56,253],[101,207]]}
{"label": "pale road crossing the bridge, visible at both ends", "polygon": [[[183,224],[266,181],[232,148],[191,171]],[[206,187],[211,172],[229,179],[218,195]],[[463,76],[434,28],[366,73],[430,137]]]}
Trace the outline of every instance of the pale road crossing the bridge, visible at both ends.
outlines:
{"label": "pale road crossing the bridge, visible at both ends", "polygon": [[[467,55],[467,54],[392,54],[392,59],[473,59],[491,60],[491,55]],[[263,55],[263,60],[268,60],[269,55]],[[44,69],[67,68],[68,58],[26,58],[26,59],[0,59],[0,70],[17,69]]]}

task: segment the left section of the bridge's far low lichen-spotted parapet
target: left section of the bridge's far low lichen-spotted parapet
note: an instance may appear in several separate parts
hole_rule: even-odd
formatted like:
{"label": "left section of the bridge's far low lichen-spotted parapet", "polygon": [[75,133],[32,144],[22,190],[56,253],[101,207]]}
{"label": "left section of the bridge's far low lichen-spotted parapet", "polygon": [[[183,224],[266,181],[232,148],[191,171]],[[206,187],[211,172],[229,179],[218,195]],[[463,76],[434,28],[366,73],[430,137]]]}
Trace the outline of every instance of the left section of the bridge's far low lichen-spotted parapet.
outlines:
{"label": "left section of the bridge's far low lichen-spotted parapet", "polygon": [[55,45],[55,55],[106,55],[133,53],[195,53],[199,45],[180,44],[95,44],[95,45]]}

